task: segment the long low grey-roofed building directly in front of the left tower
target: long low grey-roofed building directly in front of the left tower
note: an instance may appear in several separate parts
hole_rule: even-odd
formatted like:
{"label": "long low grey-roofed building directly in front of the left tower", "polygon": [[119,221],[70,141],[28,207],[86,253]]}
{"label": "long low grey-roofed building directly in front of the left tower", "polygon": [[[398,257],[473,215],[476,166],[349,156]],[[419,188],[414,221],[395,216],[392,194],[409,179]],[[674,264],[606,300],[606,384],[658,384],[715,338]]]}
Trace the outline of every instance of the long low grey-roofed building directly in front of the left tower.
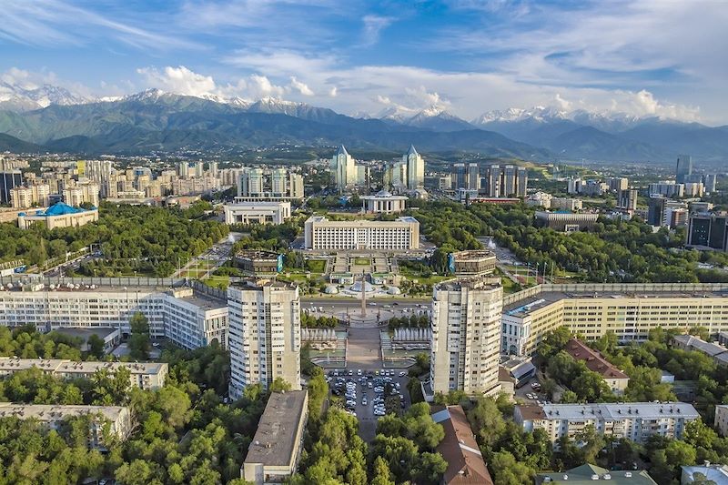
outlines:
{"label": "long low grey-roofed building directly in front of the left tower", "polygon": [[274,392],[248,446],[240,478],[254,485],[283,483],[296,472],[308,420],[308,390]]}

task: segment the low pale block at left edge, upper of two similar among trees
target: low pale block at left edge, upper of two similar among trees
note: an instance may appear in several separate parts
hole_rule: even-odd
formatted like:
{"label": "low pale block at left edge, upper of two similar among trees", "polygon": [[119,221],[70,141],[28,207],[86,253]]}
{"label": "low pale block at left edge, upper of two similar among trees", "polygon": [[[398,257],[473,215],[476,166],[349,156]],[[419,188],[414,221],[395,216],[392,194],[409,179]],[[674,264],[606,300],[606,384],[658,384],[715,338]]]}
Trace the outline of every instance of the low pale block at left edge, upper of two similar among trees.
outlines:
{"label": "low pale block at left edge, upper of two similar among trees", "polygon": [[145,390],[164,387],[169,372],[165,362],[75,362],[66,359],[0,357],[0,376],[10,376],[25,369],[40,369],[44,374],[60,379],[91,379],[99,370],[116,372],[122,368],[131,373],[129,384],[132,387]]}

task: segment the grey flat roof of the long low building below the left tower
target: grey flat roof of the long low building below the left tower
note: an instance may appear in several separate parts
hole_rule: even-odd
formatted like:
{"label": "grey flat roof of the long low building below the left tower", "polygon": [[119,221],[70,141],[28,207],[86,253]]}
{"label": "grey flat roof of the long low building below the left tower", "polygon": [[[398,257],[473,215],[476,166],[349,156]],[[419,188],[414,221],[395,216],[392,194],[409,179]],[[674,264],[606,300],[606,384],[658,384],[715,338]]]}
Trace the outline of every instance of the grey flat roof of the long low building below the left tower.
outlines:
{"label": "grey flat roof of the long low building below the left tower", "polygon": [[288,466],[298,447],[298,424],[301,414],[306,412],[307,395],[308,390],[288,390],[270,395],[248,448],[246,463]]}

